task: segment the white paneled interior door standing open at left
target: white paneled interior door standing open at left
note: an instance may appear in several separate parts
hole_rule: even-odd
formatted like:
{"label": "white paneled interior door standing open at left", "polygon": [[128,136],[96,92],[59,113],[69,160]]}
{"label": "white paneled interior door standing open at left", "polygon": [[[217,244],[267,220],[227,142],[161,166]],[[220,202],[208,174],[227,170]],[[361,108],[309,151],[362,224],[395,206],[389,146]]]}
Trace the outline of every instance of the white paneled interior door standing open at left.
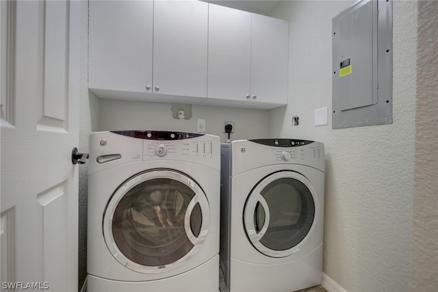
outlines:
{"label": "white paneled interior door standing open at left", "polygon": [[0,2],[1,289],[77,291],[83,3]]}

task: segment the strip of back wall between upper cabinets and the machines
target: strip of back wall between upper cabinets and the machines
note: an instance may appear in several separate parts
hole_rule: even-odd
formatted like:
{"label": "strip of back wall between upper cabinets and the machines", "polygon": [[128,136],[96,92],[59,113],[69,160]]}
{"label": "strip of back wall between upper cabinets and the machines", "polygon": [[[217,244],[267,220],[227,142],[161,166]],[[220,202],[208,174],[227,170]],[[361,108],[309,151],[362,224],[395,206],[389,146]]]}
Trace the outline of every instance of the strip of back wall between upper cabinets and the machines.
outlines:
{"label": "strip of back wall between upper cabinets and the machines", "polygon": [[196,120],[205,119],[206,133],[218,135],[225,142],[224,121],[235,124],[231,140],[268,136],[268,111],[192,105],[190,120],[172,118],[172,105],[138,101],[100,100],[99,131],[157,130],[196,133]]}

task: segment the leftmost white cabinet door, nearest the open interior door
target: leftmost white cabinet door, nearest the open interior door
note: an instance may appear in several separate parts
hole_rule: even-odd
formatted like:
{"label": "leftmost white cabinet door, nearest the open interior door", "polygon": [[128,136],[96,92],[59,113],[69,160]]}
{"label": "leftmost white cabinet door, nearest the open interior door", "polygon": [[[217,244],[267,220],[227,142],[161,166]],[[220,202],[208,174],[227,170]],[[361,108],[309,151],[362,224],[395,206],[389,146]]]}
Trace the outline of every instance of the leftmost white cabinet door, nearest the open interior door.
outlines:
{"label": "leftmost white cabinet door, nearest the open interior door", "polygon": [[90,1],[89,5],[88,87],[148,92],[153,1]]}

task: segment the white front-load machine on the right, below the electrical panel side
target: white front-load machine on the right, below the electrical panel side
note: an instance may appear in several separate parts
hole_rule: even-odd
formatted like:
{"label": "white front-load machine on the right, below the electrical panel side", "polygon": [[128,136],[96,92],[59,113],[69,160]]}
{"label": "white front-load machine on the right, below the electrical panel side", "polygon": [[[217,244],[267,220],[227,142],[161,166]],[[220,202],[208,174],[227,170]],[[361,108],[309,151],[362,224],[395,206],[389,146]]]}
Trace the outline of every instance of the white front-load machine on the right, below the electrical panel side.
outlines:
{"label": "white front-load machine on the right, below the electrical panel side", "polygon": [[324,145],[221,146],[223,291],[296,291],[322,281]]}

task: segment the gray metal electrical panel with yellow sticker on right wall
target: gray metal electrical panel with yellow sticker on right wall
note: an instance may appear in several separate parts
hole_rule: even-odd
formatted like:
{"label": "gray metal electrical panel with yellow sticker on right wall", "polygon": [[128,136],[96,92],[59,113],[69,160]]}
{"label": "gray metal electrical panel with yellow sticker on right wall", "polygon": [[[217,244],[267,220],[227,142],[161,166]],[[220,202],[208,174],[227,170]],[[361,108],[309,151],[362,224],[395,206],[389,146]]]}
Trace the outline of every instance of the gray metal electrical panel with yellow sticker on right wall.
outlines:
{"label": "gray metal electrical panel with yellow sticker on right wall", "polygon": [[392,1],[357,1],[332,24],[332,128],[390,124]]}

